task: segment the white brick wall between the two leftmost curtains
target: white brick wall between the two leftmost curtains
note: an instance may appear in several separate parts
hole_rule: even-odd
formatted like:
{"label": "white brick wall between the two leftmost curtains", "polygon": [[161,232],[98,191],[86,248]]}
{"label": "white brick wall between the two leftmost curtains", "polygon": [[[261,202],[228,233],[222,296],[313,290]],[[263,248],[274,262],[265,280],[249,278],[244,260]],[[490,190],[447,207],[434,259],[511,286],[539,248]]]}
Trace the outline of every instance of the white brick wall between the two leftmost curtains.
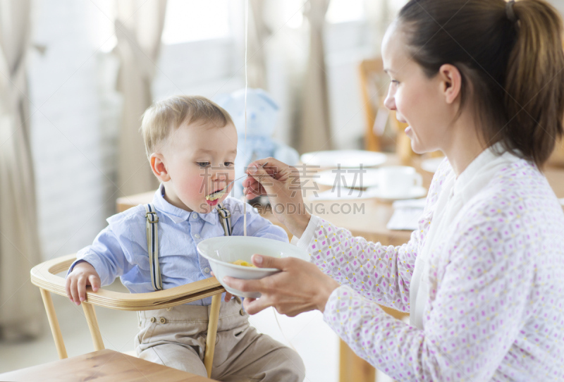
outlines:
{"label": "white brick wall between the two leftmost curtains", "polygon": [[[116,108],[99,97],[101,56],[90,1],[35,0],[30,53],[31,141],[44,259],[75,252],[115,204]],[[107,82],[107,81],[106,81]],[[114,102],[115,104],[115,102]]]}

